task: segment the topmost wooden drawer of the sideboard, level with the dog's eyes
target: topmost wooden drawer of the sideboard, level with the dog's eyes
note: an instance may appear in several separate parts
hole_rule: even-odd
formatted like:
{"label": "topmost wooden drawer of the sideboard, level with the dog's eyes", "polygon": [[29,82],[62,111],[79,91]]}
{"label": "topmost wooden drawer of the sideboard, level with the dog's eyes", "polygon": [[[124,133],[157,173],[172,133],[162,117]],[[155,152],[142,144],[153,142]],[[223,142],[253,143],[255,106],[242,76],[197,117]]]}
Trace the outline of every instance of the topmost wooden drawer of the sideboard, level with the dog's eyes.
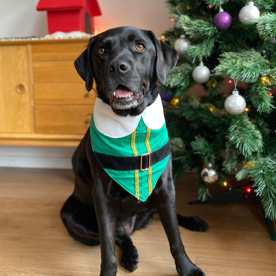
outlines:
{"label": "topmost wooden drawer of the sideboard, level with the dog's eyes", "polygon": [[37,60],[75,60],[86,48],[87,43],[49,43],[34,44],[33,61]]}

